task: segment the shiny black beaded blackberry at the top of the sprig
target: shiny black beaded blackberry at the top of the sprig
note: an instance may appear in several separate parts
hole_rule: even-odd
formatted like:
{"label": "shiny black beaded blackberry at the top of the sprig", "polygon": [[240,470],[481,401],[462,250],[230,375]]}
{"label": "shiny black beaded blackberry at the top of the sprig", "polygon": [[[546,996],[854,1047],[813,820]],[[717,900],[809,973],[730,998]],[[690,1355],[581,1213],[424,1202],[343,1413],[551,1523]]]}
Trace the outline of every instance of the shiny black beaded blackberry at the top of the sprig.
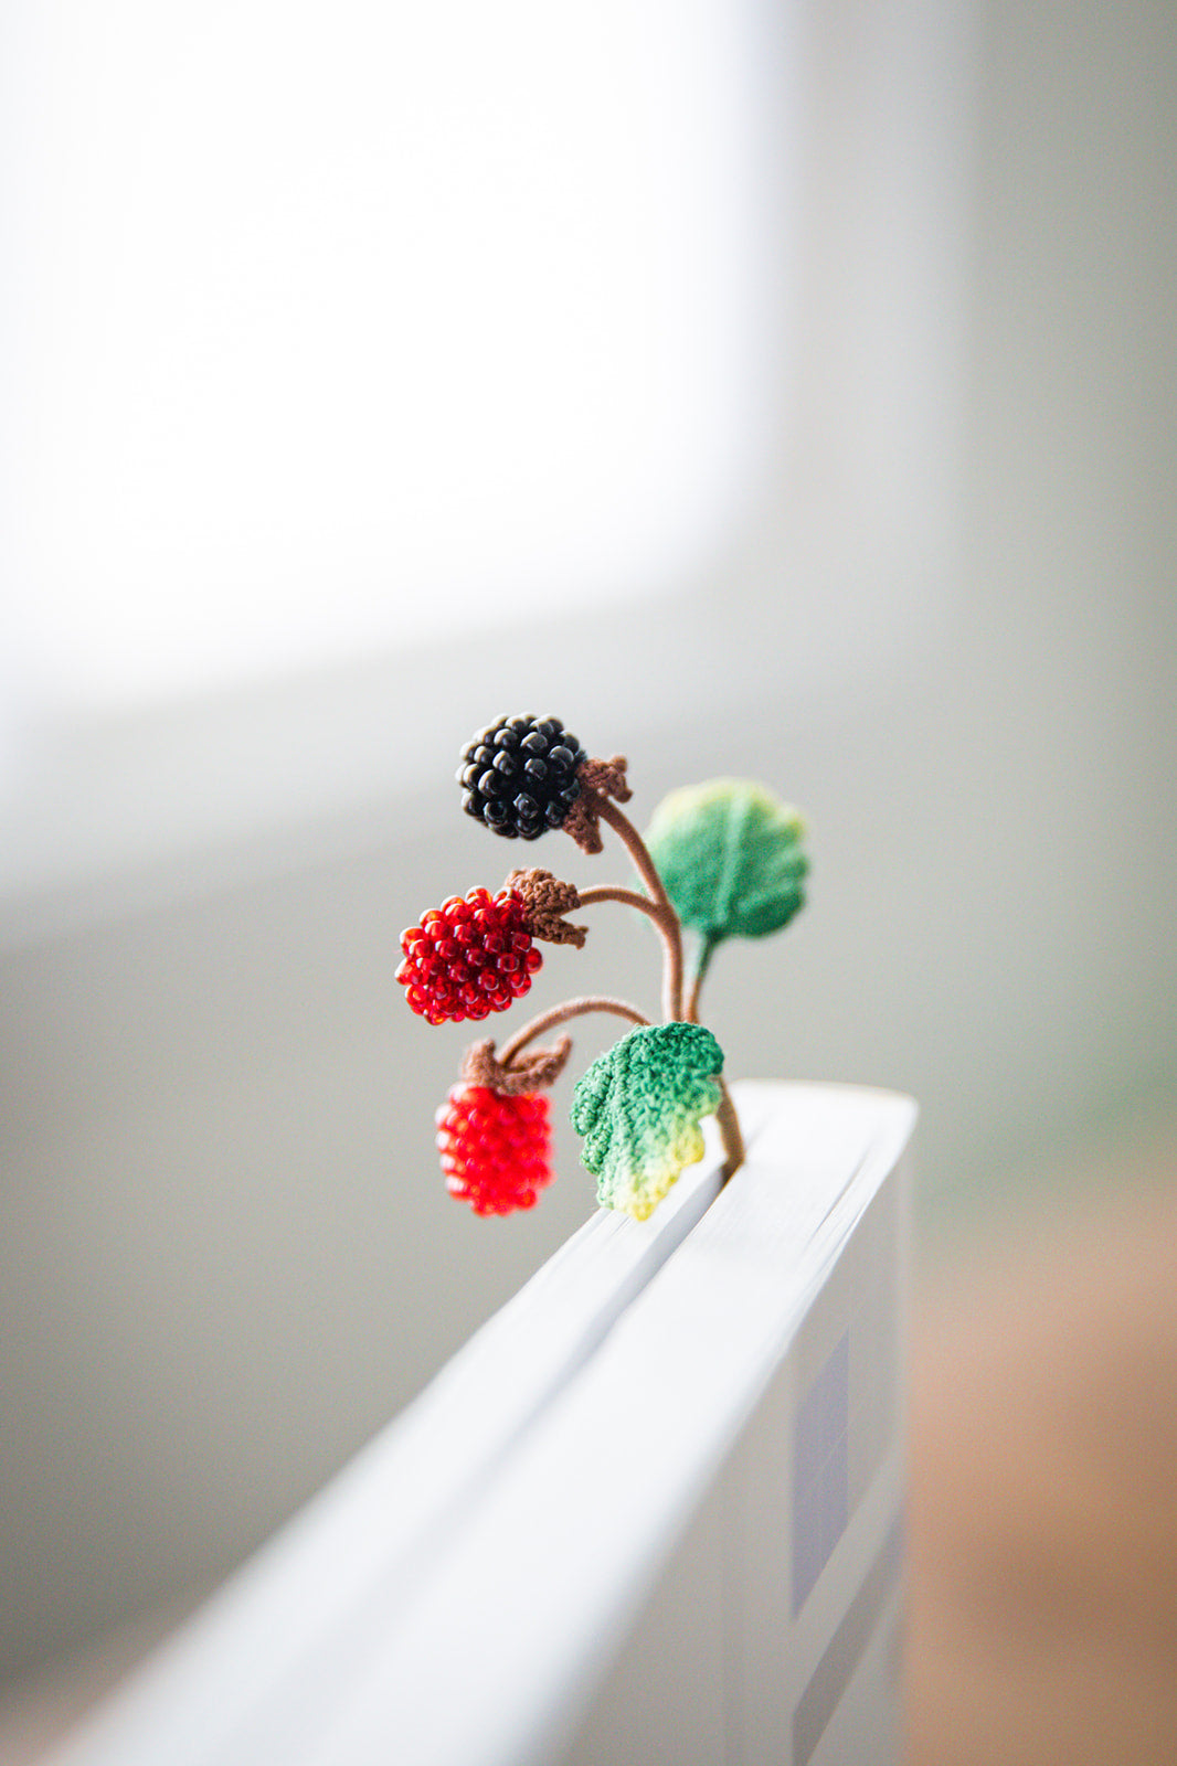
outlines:
{"label": "shiny black beaded blackberry at the top of the sprig", "polygon": [[534,841],[562,825],[587,758],[558,717],[500,717],[461,751],[461,807],[495,834]]}

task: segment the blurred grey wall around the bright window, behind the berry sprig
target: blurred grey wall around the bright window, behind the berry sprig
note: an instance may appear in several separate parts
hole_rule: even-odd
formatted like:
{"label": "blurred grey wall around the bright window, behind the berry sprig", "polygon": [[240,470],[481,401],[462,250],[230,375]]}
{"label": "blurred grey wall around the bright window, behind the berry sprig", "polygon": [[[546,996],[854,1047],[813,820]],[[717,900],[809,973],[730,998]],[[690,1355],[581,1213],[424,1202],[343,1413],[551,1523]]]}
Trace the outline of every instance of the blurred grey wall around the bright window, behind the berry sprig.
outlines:
{"label": "blurred grey wall around the bright window, behind the berry sprig", "polygon": [[[9,1672],[237,1561],[588,1213],[567,1130],[534,1217],[442,1197],[467,1038],[392,984],[399,927],[514,860],[451,804],[505,706],[629,752],[638,819],[714,772],[806,807],[811,906],[718,959],[707,1017],[733,1074],[915,1093],[928,1233],[1175,1109],[1172,9],[944,16],[809,18],[795,420],[730,556],[620,634],[463,652],[477,703],[373,666],[341,715],[385,772],[343,807],[9,917]],[[923,141],[884,129],[901,76]],[[597,911],[532,998],[654,968]]]}

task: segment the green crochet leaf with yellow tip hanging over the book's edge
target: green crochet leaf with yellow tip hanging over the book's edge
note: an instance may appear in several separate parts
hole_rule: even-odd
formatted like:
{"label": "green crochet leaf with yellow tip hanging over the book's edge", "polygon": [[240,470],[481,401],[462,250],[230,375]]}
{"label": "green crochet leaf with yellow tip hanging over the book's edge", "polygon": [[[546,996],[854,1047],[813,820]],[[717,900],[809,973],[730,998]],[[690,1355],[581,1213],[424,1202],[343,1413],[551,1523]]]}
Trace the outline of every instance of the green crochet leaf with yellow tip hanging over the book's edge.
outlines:
{"label": "green crochet leaf with yellow tip hanging over the book's edge", "polygon": [[645,1220],[684,1166],[703,1157],[700,1121],[719,1106],[723,1049],[702,1024],[631,1030],[573,1097],[597,1201]]}

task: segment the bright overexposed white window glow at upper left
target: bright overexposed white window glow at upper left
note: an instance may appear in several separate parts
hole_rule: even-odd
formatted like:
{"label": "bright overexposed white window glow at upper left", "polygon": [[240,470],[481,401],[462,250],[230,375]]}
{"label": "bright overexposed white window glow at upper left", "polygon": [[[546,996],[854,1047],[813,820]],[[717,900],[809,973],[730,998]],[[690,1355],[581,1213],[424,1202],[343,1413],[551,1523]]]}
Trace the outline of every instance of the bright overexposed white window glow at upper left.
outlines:
{"label": "bright overexposed white window glow at upper left", "polygon": [[673,581],[765,424],[756,11],[23,0],[19,668],[125,705]]}

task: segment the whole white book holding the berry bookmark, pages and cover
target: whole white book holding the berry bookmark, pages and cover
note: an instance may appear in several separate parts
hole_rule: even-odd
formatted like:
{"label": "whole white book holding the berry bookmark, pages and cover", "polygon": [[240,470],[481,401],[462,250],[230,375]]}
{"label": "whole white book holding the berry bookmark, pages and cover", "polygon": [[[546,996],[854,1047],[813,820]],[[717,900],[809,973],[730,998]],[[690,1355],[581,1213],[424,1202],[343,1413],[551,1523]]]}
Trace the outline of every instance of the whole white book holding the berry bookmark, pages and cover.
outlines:
{"label": "whole white book holding the berry bookmark, pages and cover", "polygon": [[914,1106],[733,1088],[99,1711],[60,1766],[898,1759]]}

